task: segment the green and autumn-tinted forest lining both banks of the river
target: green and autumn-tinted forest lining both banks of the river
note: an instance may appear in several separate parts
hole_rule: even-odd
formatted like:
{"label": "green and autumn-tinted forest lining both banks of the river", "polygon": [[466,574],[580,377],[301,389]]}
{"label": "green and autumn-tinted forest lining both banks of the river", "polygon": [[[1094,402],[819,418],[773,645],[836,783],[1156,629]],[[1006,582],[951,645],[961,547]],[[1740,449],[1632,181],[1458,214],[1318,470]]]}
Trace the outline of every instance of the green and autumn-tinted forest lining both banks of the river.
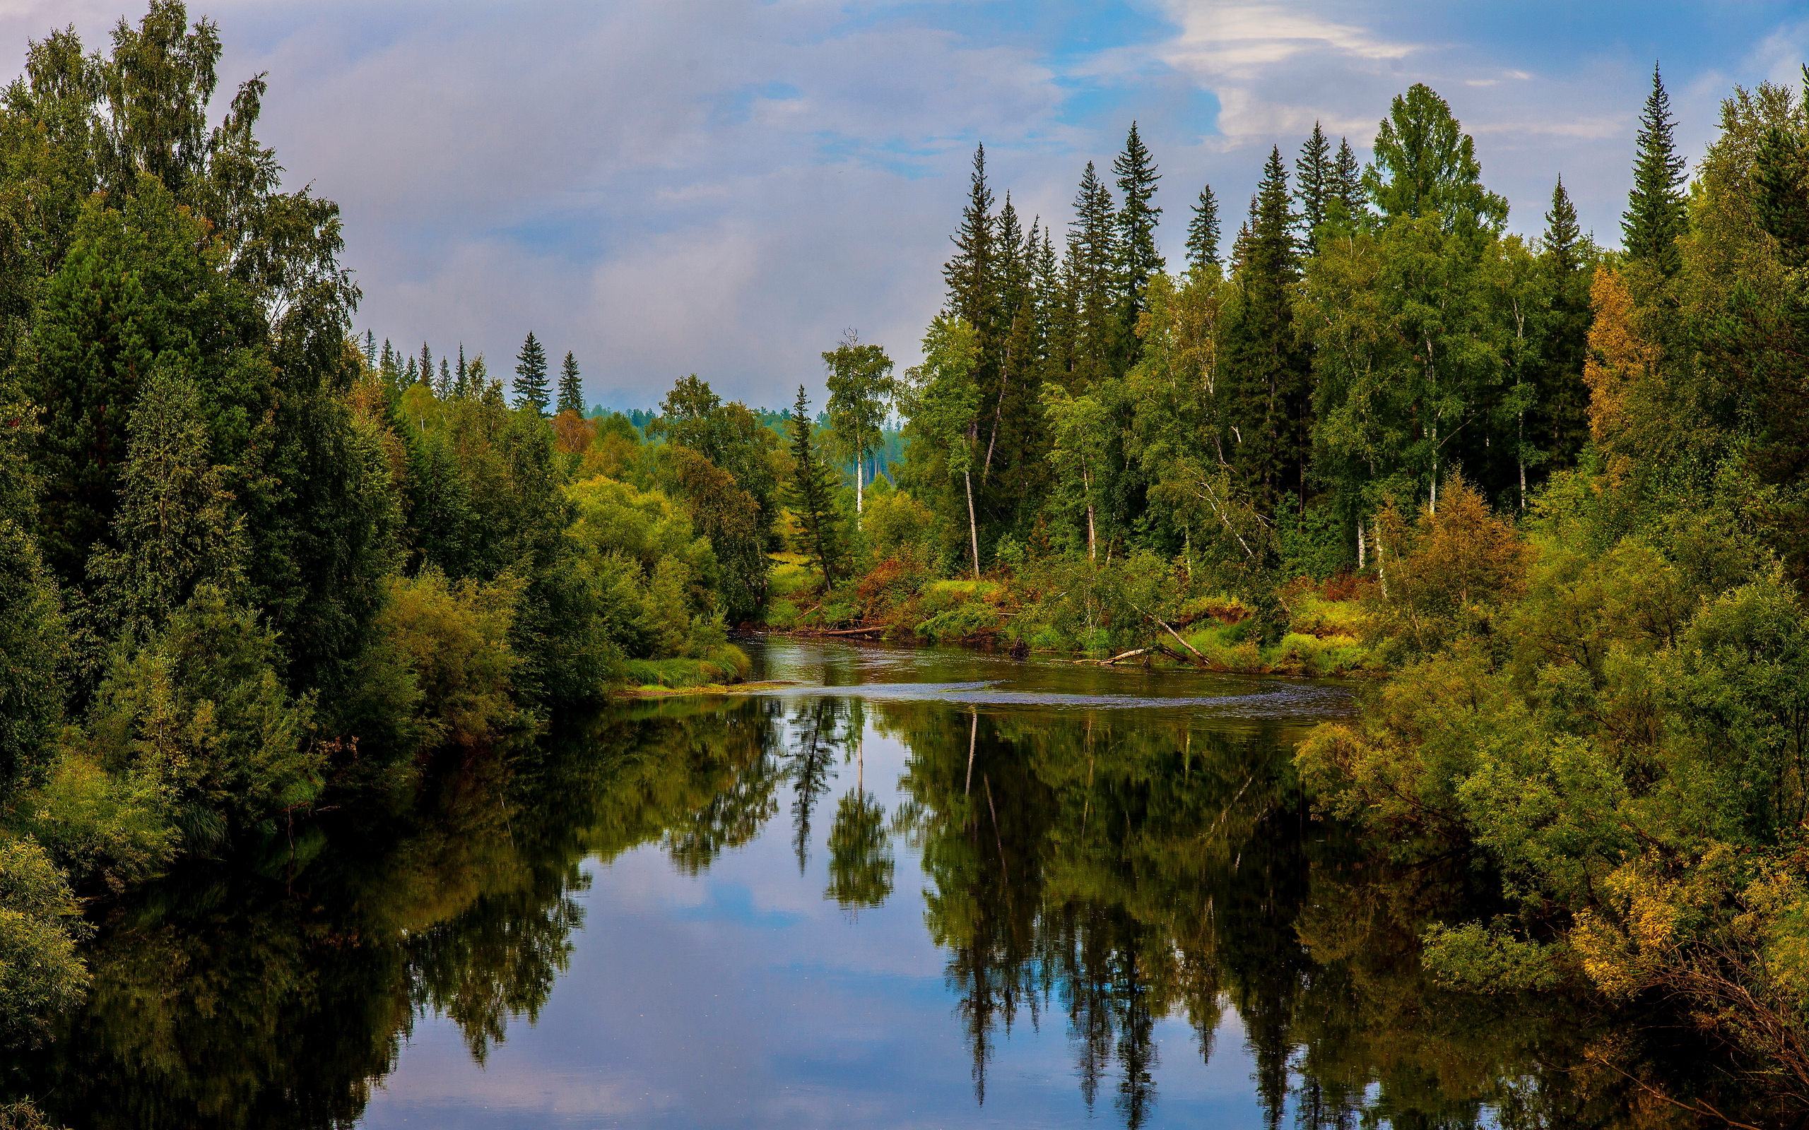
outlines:
{"label": "green and autumn-tinted forest lining both banks of the river", "polygon": [[1653,72],[1619,251],[1563,183],[1511,233],[1424,85],[1369,165],[1274,148],[1225,255],[1189,190],[1172,266],[1134,123],[1060,251],[982,148],[921,365],[850,333],[821,412],[693,374],[631,419],[532,333],[508,394],[356,333],[264,80],[208,127],[219,58],[157,0],[0,99],[7,1041],[175,861],[611,694],[745,692],[747,627],[1375,676],[1293,770],[1378,866],[1483,891],[1413,960],[1668,1002],[1809,1108],[1804,92],[1737,89],[1686,179]]}

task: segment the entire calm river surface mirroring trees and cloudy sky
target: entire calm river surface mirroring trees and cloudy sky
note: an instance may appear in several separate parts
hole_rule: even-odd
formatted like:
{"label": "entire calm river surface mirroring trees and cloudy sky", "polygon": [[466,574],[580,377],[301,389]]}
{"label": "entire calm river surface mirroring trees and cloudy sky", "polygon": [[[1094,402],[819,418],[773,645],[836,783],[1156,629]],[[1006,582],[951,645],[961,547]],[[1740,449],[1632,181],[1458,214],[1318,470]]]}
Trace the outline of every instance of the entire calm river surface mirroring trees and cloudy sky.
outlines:
{"label": "entire calm river surface mirroring trees and cloudy sky", "polygon": [[1310,817],[1346,687],[751,651],[800,685],[454,758],[112,906],[5,1087],[134,1128],[1621,1125],[1597,1018],[1420,973],[1463,866]]}

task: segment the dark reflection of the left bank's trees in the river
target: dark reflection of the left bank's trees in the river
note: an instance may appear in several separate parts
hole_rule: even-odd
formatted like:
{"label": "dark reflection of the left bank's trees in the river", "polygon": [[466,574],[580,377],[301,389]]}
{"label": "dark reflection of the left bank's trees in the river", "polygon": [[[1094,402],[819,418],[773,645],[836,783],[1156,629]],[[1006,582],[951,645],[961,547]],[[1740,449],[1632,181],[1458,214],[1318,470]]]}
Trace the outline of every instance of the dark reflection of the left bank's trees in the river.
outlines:
{"label": "dark reflection of the left bank's trees in the river", "polygon": [[349,1126],[427,1009],[481,1061],[530,1023],[581,926],[581,861],[664,841],[702,870],[776,810],[772,703],[649,703],[449,770],[109,911],[85,1011],[0,1092],[56,1125]]}

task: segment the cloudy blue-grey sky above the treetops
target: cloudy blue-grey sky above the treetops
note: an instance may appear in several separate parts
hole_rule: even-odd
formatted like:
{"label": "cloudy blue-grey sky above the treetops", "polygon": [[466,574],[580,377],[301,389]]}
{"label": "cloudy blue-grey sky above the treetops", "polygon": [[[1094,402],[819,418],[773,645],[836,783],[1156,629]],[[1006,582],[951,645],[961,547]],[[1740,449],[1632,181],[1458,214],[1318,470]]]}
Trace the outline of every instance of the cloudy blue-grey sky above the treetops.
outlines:
{"label": "cloudy blue-grey sky above the treetops", "polygon": [[[0,56],[72,24],[90,49],[141,7],[0,0]],[[1563,175],[1619,240],[1659,61],[1697,157],[1733,85],[1795,85],[1809,7],[1297,0],[219,0],[215,112],[268,72],[260,137],[288,184],[338,201],[362,333],[514,367],[532,329],[590,403],[653,407],[696,372],[729,400],[821,401],[854,329],[901,367],[986,145],[995,193],[1060,233],[1087,161],[1132,121],[1179,262],[1201,184],[1227,235],[1270,146],[1321,121],[1368,159],[1424,81],[1476,137],[1509,226]]]}

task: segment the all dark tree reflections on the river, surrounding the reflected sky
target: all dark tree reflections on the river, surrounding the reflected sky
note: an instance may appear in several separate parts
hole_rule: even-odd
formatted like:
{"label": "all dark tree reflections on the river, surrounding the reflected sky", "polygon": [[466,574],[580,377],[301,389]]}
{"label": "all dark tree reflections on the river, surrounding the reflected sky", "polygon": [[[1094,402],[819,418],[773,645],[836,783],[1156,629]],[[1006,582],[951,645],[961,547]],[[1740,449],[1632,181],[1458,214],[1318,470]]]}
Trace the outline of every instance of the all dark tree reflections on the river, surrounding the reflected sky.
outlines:
{"label": "all dark tree reflections on the river, surrounding the reflected sky", "polygon": [[[110,908],[85,1012],[11,1061],[5,1088],[71,1126],[351,1125],[423,1018],[494,1063],[586,935],[622,929],[586,920],[588,859],[657,850],[702,877],[772,835],[800,875],[823,853],[810,897],[856,931],[921,899],[948,991],[932,1020],[962,1034],[975,1114],[1026,1025],[1066,1032],[1069,1101],[1123,1126],[1161,1121],[1179,1058],[1246,1061],[1264,1126],[1684,1125],[1630,1078],[1738,1108],[1688,1032],[1425,982],[1413,938],[1478,913],[1487,884],[1465,859],[1389,871],[1308,819],[1299,703],[1335,711],[1333,689],[852,647],[765,658],[861,692],[628,705],[443,767],[403,810],[335,814]],[[964,687],[888,691],[910,673]],[[1264,698],[1270,716],[1250,707]],[[895,781],[868,772],[868,741],[903,747]],[[1192,1040],[1161,1043],[1181,1020]],[[624,1121],[655,1119],[606,1125]]]}

